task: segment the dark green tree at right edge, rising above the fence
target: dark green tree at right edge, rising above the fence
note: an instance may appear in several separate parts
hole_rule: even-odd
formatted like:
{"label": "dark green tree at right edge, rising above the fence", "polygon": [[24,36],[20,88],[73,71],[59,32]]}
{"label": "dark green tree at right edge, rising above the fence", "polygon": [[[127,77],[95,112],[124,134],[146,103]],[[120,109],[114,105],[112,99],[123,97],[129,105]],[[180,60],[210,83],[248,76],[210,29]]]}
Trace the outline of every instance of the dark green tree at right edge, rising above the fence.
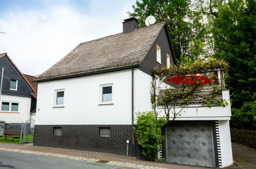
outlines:
{"label": "dark green tree at right edge, rising above the fence", "polygon": [[214,57],[229,63],[227,89],[233,95],[233,107],[240,108],[256,98],[256,2],[228,1],[219,4],[215,14],[210,22]]}

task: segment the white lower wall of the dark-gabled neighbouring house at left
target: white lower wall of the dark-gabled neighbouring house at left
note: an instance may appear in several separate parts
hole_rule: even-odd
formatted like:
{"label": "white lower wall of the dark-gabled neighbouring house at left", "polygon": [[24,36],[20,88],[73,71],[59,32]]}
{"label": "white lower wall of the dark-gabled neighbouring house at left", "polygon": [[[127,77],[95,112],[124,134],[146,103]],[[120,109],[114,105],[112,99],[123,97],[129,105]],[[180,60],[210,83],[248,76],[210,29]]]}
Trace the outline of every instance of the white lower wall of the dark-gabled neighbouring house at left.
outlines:
{"label": "white lower wall of the dark-gabled neighbouring house at left", "polygon": [[1,111],[0,108],[0,120],[5,121],[5,123],[22,123],[30,118],[30,97],[11,96],[2,94],[0,102],[1,105],[2,102],[18,103],[17,112]]}

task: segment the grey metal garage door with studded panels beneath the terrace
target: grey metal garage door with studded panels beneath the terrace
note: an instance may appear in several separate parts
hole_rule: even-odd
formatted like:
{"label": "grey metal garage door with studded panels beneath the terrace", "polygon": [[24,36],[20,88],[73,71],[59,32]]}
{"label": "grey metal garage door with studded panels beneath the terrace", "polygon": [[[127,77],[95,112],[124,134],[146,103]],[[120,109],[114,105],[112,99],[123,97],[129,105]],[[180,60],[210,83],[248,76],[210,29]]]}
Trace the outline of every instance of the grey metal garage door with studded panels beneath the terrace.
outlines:
{"label": "grey metal garage door with studded panels beneath the terrace", "polygon": [[215,167],[212,124],[188,121],[166,126],[167,162]]}

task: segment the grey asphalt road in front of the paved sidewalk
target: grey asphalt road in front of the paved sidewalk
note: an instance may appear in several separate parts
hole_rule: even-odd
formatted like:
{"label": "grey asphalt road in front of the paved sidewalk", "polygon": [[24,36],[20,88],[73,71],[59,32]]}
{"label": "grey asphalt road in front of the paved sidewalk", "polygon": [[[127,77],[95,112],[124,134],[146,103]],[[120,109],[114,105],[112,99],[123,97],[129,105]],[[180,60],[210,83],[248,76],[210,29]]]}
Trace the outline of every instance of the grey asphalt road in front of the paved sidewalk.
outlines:
{"label": "grey asphalt road in front of the paved sidewalk", "polygon": [[64,169],[64,168],[127,168],[123,166],[74,160],[69,158],[0,151],[0,168]]}

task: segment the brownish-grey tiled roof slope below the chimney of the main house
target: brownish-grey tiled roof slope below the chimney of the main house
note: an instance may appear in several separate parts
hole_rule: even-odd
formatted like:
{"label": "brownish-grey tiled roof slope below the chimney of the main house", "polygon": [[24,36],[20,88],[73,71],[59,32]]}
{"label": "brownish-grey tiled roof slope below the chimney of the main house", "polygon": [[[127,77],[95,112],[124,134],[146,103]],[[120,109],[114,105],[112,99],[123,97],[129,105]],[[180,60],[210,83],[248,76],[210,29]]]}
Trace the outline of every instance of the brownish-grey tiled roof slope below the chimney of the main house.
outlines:
{"label": "brownish-grey tiled roof slope below the chimney of the main house", "polygon": [[79,44],[38,79],[141,64],[165,22]]}

